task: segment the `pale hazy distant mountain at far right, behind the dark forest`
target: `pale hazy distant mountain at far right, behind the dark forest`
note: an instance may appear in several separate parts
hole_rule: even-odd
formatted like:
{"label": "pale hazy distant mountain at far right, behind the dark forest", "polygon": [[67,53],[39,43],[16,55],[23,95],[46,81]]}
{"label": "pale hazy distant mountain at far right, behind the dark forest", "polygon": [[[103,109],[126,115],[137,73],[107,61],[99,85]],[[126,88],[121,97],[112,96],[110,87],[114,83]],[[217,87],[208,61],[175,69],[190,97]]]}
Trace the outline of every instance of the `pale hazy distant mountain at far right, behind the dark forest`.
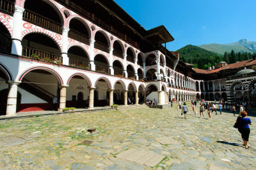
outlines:
{"label": "pale hazy distant mountain at far right, behind the dark forest", "polygon": [[209,50],[212,52],[217,52],[218,54],[224,54],[225,51],[234,50],[234,52],[256,52],[256,42],[249,42],[246,39],[239,40],[234,43],[219,44],[210,43],[204,45],[198,45],[202,49]]}

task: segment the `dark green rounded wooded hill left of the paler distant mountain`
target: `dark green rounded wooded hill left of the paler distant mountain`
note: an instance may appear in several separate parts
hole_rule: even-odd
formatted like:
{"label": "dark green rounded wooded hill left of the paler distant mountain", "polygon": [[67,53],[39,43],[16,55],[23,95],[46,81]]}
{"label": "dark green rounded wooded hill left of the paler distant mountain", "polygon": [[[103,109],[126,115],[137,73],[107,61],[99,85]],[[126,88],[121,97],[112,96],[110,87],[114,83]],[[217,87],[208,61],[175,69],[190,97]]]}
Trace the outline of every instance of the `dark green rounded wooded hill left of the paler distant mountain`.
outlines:
{"label": "dark green rounded wooded hill left of the paler distant mountain", "polygon": [[194,65],[194,68],[207,69],[209,66],[217,66],[220,61],[223,61],[222,55],[195,45],[186,45],[177,52],[180,54],[180,60]]}

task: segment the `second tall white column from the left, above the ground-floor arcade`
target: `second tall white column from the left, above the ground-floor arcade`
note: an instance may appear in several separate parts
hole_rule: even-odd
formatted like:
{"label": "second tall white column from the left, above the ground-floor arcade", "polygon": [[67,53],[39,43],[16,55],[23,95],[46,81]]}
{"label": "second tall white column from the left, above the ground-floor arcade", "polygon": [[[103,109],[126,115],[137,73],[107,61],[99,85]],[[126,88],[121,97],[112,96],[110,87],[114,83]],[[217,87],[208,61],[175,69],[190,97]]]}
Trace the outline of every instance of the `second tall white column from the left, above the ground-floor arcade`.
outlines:
{"label": "second tall white column from the left, above the ground-floor arcade", "polygon": [[62,62],[63,65],[69,65],[69,58],[68,58],[68,31],[67,27],[62,27]]}

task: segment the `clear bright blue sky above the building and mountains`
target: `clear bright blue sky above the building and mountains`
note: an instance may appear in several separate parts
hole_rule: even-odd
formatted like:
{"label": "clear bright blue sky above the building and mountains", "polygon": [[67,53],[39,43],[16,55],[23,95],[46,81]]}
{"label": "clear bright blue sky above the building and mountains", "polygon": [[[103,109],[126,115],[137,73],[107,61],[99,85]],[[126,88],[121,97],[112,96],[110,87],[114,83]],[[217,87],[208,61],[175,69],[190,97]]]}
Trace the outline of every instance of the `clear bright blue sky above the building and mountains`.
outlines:
{"label": "clear bright blue sky above the building and mountains", "polygon": [[164,25],[175,40],[169,50],[185,45],[256,42],[256,0],[115,0],[146,30]]}

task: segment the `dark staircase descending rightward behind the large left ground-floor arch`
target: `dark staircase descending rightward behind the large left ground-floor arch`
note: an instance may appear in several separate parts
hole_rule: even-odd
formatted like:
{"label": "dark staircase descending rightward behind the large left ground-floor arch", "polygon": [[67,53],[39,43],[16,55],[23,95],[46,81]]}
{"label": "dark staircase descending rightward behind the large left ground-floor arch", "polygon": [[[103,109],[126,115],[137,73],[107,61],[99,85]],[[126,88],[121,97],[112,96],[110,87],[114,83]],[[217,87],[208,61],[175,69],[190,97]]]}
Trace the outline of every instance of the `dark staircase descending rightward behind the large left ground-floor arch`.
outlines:
{"label": "dark staircase descending rightward behind the large left ground-floor arch", "polygon": [[19,88],[22,88],[29,93],[35,95],[36,97],[41,98],[42,100],[45,100],[48,103],[52,103],[52,99],[55,97],[55,95],[52,95],[45,89],[40,88],[39,86],[36,86],[36,84],[31,83],[27,79],[22,79],[22,83],[20,83]]}

